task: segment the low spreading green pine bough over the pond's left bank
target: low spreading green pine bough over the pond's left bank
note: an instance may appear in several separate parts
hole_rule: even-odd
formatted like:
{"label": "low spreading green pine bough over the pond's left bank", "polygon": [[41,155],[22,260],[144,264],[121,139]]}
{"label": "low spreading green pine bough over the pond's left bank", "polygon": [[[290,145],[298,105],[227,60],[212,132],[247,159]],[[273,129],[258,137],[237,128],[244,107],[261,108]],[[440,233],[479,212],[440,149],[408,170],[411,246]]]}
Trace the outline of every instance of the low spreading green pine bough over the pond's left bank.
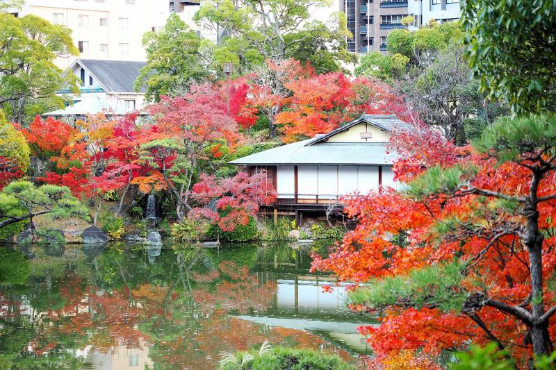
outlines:
{"label": "low spreading green pine bough over the pond's left bank", "polygon": [[0,228],[46,215],[53,219],[65,217],[89,218],[88,210],[70,192],[69,187],[42,185],[35,187],[28,181],[14,181],[0,192]]}

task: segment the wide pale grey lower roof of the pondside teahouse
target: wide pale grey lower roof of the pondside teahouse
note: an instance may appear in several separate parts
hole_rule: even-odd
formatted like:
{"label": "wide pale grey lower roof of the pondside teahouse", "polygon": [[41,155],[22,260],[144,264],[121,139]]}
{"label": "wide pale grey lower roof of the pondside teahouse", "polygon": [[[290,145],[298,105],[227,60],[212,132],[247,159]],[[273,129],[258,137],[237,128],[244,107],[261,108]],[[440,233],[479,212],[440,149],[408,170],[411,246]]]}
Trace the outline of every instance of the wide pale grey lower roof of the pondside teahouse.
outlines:
{"label": "wide pale grey lower roof of the pondside teahouse", "polygon": [[278,146],[232,160],[232,165],[392,165],[397,153],[382,142],[324,142],[311,140]]}

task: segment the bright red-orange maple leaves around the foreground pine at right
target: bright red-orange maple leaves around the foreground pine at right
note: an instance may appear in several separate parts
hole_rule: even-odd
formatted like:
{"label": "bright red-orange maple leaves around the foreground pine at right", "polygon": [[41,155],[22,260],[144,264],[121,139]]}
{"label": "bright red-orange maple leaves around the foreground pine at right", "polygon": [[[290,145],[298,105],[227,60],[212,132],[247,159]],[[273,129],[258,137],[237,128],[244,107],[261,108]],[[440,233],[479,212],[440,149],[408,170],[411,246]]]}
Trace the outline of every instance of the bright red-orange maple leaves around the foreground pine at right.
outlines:
{"label": "bright red-orange maple leaves around the foreground pine at right", "polygon": [[[502,194],[524,195],[530,188],[530,171],[512,163],[496,165],[492,158],[473,153],[470,147],[455,148],[439,135],[418,127],[413,133],[400,133],[393,144],[402,158],[395,163],[395,176],[407,181],[425,169],[440,165],[473,164],[477,174],[471,184]],[[556,192],[556,174],[551,171],[543,179],[538,196]],[[489,248],[498,227],[523,222],[519,215],[496,208],[484,196],[459,194],[417,199],[382,189],[363,196],[346,197],[345,212],[359,220],[357,228],[343,238],[327,258],[316,256],[313,269],[332,271],[344,280],[366,282],[373,278],[406,275],[413,269],[431,264],[479,258],[464,276],[464,292],[486,289],[489,298],[515,305],[525,301],[530,292],[528,253],[515,233],[500,237]],[[478,213],[477,213],[478,212]],[[543,242],[543,274],[548,279],[556,268],[556,236],[550,220],[556,217],[556,201],[539,204],[539,227],[547,230]],[[438,221],[457,219],[484,228],[480,235],[446,237],[438,232]],[[477,226],[478,227],[478,226]],[[393,235],[403,235],[400,244]],[[484,251],[484,252],[483,252]],[[544,299],[553,301],[556,292],[545,288]],[[353,307],[365,311],[361,306]],[[484,307],[477,310],[491,333],[507,346],[518,359],[530,356],[527,328],[510,314]],[[554,320],[549,335],[556,336]],[[378,328],[361,328],[377,355],[415,351],[438,354],[443,349],[462,348],[471,339],[477,344],[491,338],[480,326],[461,312],[441,312],[439,308],[407,308],[393,305]]]}

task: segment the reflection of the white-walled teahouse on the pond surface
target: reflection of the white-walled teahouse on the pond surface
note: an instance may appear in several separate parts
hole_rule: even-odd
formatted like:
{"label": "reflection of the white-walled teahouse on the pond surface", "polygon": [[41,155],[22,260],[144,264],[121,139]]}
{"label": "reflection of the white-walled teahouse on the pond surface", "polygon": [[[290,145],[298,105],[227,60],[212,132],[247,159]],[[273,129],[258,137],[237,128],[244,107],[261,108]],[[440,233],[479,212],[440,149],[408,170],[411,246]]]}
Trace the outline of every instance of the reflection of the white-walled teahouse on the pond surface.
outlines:
{"label": "reflection of the white-walled teahouse on the pond surface", "polygon": [[[309,274],[309,253],[309,248],[292,249],[288,244],[259,249],[256,274],[261,283],[276,280],[276,294],[265,312],[238,317],[275,328],[304,330],[341,344],[352,353],[368,353],[370,348],[365,338],[357,334],[357,327],[363,323],[374,325],[376,321],[347,312],[345,292],[351,283]],[[325,292],[325,286],[332,287],[332,292]]]}

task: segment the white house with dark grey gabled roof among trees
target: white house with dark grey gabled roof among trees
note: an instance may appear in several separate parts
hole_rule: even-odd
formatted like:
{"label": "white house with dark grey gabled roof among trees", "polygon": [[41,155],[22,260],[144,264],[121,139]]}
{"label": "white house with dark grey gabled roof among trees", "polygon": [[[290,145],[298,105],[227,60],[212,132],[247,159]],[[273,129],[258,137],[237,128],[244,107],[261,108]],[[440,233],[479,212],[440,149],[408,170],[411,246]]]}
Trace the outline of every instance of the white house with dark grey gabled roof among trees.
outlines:
{"label": "white house with dark grey gabled roof among trees", "polygon": [[[97,112],[124,115],[140,110],[145,103],[145,88],[136,92],[133,84],[145,62],[128,60],[76,59],[70,66],[79,78],[81,94],[64,109],[44,113],[49,116],[84,116]],[[69,90],[60,94],[70,94]]]}

